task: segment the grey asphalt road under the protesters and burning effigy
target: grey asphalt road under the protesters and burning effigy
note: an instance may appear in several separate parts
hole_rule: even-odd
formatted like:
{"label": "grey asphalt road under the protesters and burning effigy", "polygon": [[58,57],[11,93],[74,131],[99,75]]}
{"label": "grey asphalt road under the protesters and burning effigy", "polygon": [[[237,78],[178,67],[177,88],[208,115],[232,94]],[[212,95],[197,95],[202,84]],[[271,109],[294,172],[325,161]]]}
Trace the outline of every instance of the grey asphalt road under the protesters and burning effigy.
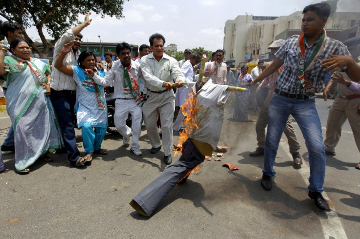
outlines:
{"label": "grey asphalt road under the protesters and burning effigy", "polygon": [[[230,101],[229,101],[230,103]],[[316,100],[323,127],[332,100]],[[308,153],[302,145],[304,164],[294,168],[285,141],[275,161],[273,189],[260,186],[263,157],[249,157],[256,148],[255,120],[230,121],[233,106],[225,109],[219,144],[229,148],[222,161],[204,161],[200,171],[176,186],[151,218],[137,214],[131,199],[166,167],[163,151],[150,154],[151,145],[142,128],[140,149],[130,153],[119,136],[107,134],[106,156],[84,168],[70,166],[66,154],[52,154],[51,163],[37,161],[28,175],[15,171],[15,155],[3,153],[6,170],[0,173],[1,238],[359,238],[359,152],[349,124],[343,127],[335,157],[327,157],[325,198],[332,212],[319,211],[307,196]],[[10,120],[0,112],[0,140]],[[81,132],[77,145],[83,152]],[[323,129],[325,136],[325,128]],[[174,136],[176,142],[177,136]],[[179,155],[174,157],[179,159]],[[239,170],[230,171],[223,163]]]}

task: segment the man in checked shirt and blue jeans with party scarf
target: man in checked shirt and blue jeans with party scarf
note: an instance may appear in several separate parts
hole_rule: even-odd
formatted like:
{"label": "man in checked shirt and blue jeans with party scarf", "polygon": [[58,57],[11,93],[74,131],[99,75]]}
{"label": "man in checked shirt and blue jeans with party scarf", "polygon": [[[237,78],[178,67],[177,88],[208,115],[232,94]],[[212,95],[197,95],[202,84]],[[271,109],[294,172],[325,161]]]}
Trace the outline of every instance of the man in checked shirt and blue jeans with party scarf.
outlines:
{"label": "man in checked shirt and blue jeans with party scarf", "polygon": [[320,68],[320,61],[330,58],[329,54],[350,55],[344,44],[326,37],[324,26],[330,10],[330,5],[325,2],[306,6],[301,24],[303,34],[286,40],[276,52],[276,59],[270,67],[251,82],[254,87],[256,82],[268,77],[285,63],[275,82],[276,89],[269,107],[261,186],[265,190],[271,190],[271,178],[275,176],[273,164],[279,141],[286,121],[292,115],[300,127],[309,152],[308,196],[323,211],[330,211],[330,207],[321,195],[324,191],[325,149],[321,123],[315,108],[315,92],[322,90],[326,74]]}

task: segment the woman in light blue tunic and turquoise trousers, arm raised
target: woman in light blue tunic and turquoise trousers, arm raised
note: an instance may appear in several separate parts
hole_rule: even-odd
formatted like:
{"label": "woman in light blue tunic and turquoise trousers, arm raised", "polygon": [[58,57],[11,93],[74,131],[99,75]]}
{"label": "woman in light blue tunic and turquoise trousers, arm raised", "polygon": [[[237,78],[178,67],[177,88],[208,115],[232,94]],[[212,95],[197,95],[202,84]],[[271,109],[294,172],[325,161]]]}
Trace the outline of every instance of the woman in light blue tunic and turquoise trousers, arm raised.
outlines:
{"label": "woman in light blue tunic and turquoise trousers, arm raised", "polygon": [[[104,77],[97,71],[95,54],[83,51],[78,59],[78,65],[64,65],[63,60],[75,41],[65,44],[54,66],[66,75],[73,76],[78,96],[75,113],[77,126],[81,128],[83,144],[87,162],[92,160],[92,154],[108,154],[106,149],[101,148],[108,126],[108,113],[104,94],[104,87],[96,84],[91,77],[85,75],[85,69],[91,69],[95,74]],[[94,130],[92,129],[94,128]]]}

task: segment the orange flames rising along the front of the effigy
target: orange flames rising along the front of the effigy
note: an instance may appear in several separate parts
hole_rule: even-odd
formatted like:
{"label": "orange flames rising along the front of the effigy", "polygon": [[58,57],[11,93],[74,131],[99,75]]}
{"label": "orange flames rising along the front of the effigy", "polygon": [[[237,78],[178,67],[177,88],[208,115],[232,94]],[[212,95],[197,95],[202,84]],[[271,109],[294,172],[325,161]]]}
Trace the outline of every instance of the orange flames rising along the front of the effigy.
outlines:
{"label": "orange flames rising along the front of the effigy", "polygon": [[198,106],[198,98],[194,94],[194,92],[190,91],[190,94],[191,95],[185,99],[185,103],[180,108],[182,114],[186,117],[184,119],[184,124],[186,127],[184,131],[180,132],[180,137],[178,139],[178,145],[180,145],[180,147],[177,147],[175,149],[174,156],[177,155],[178,151],[180,151],[180,153],[182,154],[182,144],[186,141],[186,139],[189,138],[189,135],[192,134],[195,128],[199,128],[199,125],[196,123],[196,113],[201,106]]}

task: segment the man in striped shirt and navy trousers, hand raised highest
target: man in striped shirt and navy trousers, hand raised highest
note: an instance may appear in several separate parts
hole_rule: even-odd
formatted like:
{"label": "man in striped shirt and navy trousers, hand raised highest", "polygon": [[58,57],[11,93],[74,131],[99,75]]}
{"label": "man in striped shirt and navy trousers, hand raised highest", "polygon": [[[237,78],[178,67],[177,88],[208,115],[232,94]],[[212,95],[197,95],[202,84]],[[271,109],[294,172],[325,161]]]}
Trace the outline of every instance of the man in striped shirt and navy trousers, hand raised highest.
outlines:
{"label": "man in striped shirt and navy trousers, hand raised highest", "polygon": [[[85,21],[83,23],[67,30],[56,42],[54,46],[53,64],[58,56],[63,54],[61,52],[63,46],[71,40],[76,40],[75,44],[72,46],[72,51],[66,54],[63,64],[77,65],[77,58],[80,54],[79,48],[81,46],[81,39],[83,38],[83,35],[81,35],[80,32],[90,25],[91,19],[89,19],[89,16],[90,13],[85,16]],[[50,100],[59,119],[59,126],[67,151],[67,159],[72,165],[83,165],[86,162],[86,159],[80,157],[80,152],[76,146],[75,130],[73,127],[75,119],[74,106],[76,100],[76,83],[72,76],[65,75],[58,69],[53,68],[50,85]]]}

